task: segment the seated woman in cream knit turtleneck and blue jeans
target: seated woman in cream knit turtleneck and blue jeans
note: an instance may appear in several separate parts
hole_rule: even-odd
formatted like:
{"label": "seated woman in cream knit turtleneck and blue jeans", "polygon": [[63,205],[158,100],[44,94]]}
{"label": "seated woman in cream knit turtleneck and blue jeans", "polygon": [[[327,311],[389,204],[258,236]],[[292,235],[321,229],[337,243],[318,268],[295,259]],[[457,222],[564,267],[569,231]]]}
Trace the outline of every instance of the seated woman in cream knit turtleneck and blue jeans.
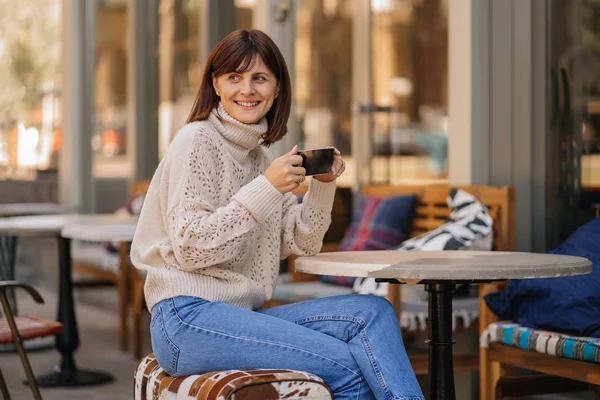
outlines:
{"label": "seated woman in cream knit turtleneck and blue jeans", "polygon": [[[387,300],[349,295],[260,309],[279,260],[319,252],[339,151],[305,179],[297,146],[269,164],[291,105],[285,61],[260,31],[210,54],[187,124],[152,179],[131,258],[147,271],[152,347],[171,375],[289,368],[323,378],[337,399],[422,399]],[[262,141],[262,142],[261,142]],[[261,146],[262,144],[262,146]]]}

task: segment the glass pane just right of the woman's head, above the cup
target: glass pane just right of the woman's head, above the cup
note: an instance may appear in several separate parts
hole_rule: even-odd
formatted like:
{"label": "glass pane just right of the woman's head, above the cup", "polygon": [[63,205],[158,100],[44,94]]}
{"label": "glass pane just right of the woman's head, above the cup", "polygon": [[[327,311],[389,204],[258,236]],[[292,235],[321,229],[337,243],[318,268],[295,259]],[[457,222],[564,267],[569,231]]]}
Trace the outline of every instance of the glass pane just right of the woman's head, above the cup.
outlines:
{"label": "glass pane just right of the woman's head, above the cup", "polygon": [[294,100],[300,146],[335,143],[349,154],[352,1],[300,0],[297,4]]}

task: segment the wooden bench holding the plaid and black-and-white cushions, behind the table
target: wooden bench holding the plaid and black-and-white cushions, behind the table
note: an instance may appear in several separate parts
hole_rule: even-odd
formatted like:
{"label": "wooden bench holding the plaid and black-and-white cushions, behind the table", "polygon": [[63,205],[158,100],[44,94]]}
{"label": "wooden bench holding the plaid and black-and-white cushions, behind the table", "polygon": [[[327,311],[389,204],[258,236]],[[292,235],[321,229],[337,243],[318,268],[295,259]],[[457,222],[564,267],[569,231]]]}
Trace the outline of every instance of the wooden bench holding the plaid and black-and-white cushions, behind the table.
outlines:
{"label": "wooden bench holding the plaid and black-and-white cushions, behind the table", "polygon": [[[491,186],[388,186],[388,185],[369,185],[363,186],[361,194],[374,197],[392,197],[416,194],[417,207],[413,216],[412,229],[410,236],[415,237],[439,226],[443,225],[450,209],[447,206],[446,198],[451,189],[462,189],[471,193],[489,209],[490,216],[494,220],[493,231],[494,241],[493,250],[513,251],[516,247],[516,219],[515,219],[515,191],[512,187],[491,187]],[[301,189],[302,190],[302,189]],[[304,189],[305,190],[305,189]],[[335,251],[336,244],[328,244],[322,251]],[[293,282],[315,281],[318,277],[309,274],[295,272],[294,261],[296,257],[289,260],[289,269],[291,280]],[[392,303],[400,318],[402,314],[401,304],[402,285],[389,285],[388,300]],[[284,303],[271,302],[270,306],[276,306]],[[467,330],[475,331],[477,324],[471,325]],[[457,331],[463,331],[463,326],[457,326]],[[404,332],[407,334],[407,332]],[[423,332],[426,335],[427,332]],[[411,356],[411,363],[417,375],[426,375],[428,373],[427,355]],[[479,358],[477,354],[455,354],[455,371],[471,371],[479,368]]]}

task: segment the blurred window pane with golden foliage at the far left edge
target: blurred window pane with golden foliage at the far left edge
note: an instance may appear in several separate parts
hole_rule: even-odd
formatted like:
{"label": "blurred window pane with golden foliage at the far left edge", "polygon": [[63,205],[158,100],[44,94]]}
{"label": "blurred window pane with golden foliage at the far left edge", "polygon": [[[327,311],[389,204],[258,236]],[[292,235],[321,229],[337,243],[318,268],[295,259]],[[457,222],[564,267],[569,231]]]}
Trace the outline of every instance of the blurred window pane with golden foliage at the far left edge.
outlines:
{"label": "blurred window pane with golden foliage at the far left edge", "polygon": [[0,0],[0,179],[57,167],[60,27],[60,0]]}

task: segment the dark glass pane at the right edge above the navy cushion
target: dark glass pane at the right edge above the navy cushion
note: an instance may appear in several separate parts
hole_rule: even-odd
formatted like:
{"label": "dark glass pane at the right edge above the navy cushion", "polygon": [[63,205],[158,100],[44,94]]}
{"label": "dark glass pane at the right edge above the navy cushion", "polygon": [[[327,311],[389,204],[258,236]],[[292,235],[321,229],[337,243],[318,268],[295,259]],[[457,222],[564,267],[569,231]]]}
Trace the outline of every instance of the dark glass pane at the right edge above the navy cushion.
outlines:
{"label": "dark glass pane at the right edge above the navy cushion", "polygon": [[552,0],[548,7],[546,245],[551,249],[600,216],[600,3]]}

